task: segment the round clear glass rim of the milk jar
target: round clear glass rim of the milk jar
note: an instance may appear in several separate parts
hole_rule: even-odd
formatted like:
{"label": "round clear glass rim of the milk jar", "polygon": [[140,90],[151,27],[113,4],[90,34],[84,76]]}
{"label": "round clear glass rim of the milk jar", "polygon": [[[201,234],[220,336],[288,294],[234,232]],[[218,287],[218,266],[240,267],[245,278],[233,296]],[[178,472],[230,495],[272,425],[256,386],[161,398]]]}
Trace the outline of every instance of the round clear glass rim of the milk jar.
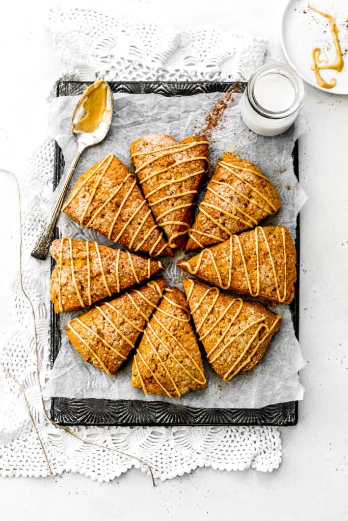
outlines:
{"label": "round clear glass rim of the milk jar", "polygon": [[[281,74],[287,80],[289,80],[291,82],[291,84],[293,85],[293,88],[295,91],[295,98],[294,98],[294,101],[291,104],[291,106],[286,108],[285,110],[279,110],[279,111],[268,110],[268,109],[262,107],[258,103],[258,101],[255,97],[254,88],[255,88],[256,82],[260,78],[263,78],[264,76],[267,76],[269,74]],[[305,95],[305,89],[304,89],[304,84],[303,84],[302,78],[298,75],[298,73],[295,71],[295,69],[293,69],[292,67],[290,67],[289,65],[286,65],[286,64],[271,63],[271,64],[263,65],[257,71],[255,71],[253,73],[253,75],[251,75],[251,77],[248,81],[246,94],[247,94],[248,101],[249,101],[251,107],[253,107],[253,109],[258,114],[260,114],[260,116],[263,116],[263,117],[269,118],[269,119],[282,119],[282,118],[286,118],[287,116],[291,116],[299,109],[299,107],[301,106],[301,103],[303,101],[304,95]]]}

